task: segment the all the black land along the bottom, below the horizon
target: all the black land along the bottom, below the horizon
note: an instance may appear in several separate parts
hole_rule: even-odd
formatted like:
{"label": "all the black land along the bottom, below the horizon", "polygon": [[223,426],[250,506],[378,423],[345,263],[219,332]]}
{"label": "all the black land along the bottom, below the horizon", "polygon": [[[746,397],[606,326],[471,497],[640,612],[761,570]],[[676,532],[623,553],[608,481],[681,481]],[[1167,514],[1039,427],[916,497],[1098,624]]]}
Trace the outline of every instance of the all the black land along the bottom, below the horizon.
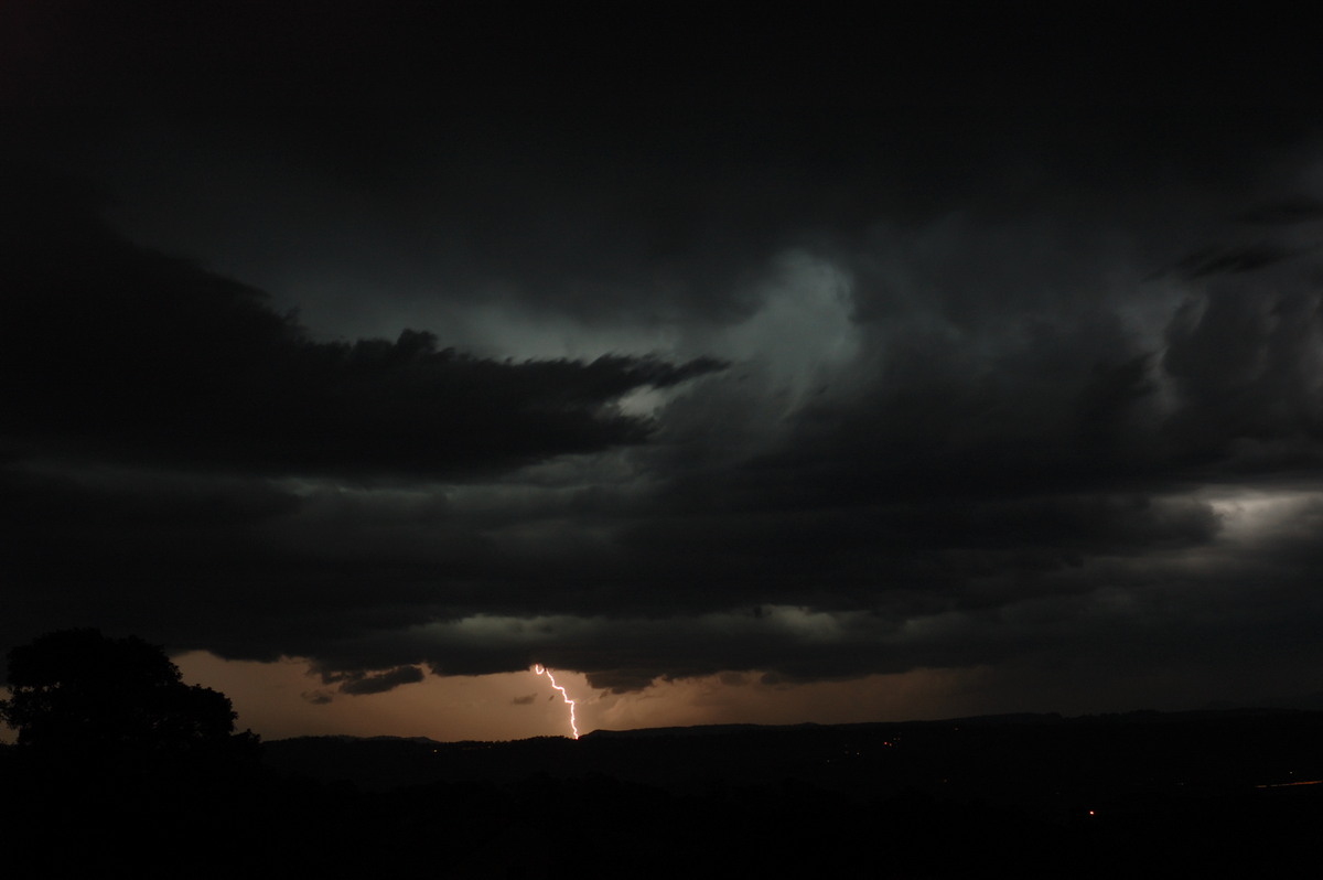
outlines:
{"label": "all the black land along the bottom, below the horizon", "polygon": [[0,750],[12,876],[1195,876],[1310,869],[1323,713],[1016,716],[249,758]]}

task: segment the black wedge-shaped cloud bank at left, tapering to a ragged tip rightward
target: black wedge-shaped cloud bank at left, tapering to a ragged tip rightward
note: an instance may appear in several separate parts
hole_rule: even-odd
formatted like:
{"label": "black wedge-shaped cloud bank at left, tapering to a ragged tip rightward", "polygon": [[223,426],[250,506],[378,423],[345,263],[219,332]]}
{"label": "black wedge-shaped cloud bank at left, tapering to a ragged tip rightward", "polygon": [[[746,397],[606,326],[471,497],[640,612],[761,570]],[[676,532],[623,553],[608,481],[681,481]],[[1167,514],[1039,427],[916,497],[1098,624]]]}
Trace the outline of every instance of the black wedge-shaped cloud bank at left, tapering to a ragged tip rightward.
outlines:
{"label": "black wedge-shaped cloud bank at left, tapering to a ragged tip rightward", "polygon": [[0,369],[8,446],[269,474],[451,478],[640,442],[636,388],[721,365],[492,361],[435,336],[312,343],[262,294],[7,192]]}

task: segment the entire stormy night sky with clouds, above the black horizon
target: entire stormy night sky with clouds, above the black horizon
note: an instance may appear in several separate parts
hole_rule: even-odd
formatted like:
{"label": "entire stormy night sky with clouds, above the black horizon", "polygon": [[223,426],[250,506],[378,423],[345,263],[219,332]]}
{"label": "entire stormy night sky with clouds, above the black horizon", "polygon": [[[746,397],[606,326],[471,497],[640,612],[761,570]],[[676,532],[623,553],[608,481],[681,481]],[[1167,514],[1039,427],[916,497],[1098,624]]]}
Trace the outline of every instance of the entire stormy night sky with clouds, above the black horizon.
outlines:
{"label": "entire stormy night sky with clouds, above the black horizon", "polygon": [[377,5],[5,4],[0,647],[265,736],[1318,704],[1291,22]]}

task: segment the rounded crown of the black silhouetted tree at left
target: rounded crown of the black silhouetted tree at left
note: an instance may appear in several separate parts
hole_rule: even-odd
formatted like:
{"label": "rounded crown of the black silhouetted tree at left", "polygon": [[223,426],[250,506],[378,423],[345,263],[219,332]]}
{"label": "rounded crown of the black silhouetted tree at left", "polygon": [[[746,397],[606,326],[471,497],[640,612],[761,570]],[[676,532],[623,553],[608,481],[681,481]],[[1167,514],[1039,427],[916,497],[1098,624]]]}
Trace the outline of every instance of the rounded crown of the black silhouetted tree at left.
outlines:
{"label": "rounded crown of the black silhouetted tree at left", "polygon": [[136,637],[62,630],[8,659],[12,696],[0,701],[0,719],[19,729],[20,746],[164,756],[232,742],[229,697],[184,684],[165,652]]}

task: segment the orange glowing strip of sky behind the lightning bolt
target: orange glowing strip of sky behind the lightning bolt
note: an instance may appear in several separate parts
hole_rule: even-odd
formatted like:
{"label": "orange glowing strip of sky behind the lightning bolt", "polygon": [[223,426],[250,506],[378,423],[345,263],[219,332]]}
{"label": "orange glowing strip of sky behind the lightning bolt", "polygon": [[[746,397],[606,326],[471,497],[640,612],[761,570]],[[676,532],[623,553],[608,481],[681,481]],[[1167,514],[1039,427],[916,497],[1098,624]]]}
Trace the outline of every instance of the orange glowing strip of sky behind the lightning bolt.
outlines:
{"label": "orange glowing strip of sky behind the lightning bolt", "polygon": [[[238,729],[265,740],[294,736],[422,736],[438,741],[507,741],[565,724],[537,700],[538,667],[484,675],[434,675],[381,693],[349,695],[327,684],[307,658],[225,660],[205,651],[176,655],[184,680],[229,696]],[[545,667],[542,667],[545,668]],[[579,738],[593,729],[628,730],[703,724],[857,724],[967,717],[1009,711],[1098,712],[1126,705],[1070,704],[1048,688],[1041,704],[1008,701],[986,667],[912,670],[832,682],[778,682],[758,670],[656,679],[636,691],[594,688],[583,672],[552,671],[574,712]],[[1016,682],[1019,684],[1019,682]],[[1031,682],[1037,685],[1037,682]],[[1054,683],[1049,683],[1054,684]],[[573,689],[576,697],[569,697]],[[1043,688],[1040,688],[1043,689]],[[578,725],[579,716],[583,726]],[[13,736],[0,725],[0,741]],[[565,736],[570,736],[566,733]]]}

